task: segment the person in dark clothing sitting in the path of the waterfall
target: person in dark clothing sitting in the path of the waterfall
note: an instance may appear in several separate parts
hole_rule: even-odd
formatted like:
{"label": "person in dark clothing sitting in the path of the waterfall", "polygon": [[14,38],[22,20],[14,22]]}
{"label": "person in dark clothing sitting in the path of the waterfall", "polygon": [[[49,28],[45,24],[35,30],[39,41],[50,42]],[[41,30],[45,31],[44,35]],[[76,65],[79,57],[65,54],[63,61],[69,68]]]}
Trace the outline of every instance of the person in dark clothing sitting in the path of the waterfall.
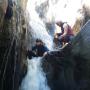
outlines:
{"label": "person in dark clothing sitting in the path of the waterfall", "polygon": [[49,49],[45,46],[45,44],[40,39],[36,39],[36,44],[32,47],[32,50],[28,50],[27,56],[29,59],[32,57],[42,57],[47,54]]}

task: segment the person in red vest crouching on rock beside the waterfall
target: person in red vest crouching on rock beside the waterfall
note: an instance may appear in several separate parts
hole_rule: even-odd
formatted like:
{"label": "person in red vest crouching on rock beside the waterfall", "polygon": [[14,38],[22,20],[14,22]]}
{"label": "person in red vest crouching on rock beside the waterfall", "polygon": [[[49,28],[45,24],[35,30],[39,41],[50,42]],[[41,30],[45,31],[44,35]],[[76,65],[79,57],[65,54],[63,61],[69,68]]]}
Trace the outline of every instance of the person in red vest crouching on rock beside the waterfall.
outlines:
{"label": "person in red vest crouching on rock beside the waterfall", "polygon": [[61,27],[61,33],[58,36],[58,41],[60,42],[61,46],[63,46],[74,38],[74,33],[66,22],[59,21],[56,24]]}

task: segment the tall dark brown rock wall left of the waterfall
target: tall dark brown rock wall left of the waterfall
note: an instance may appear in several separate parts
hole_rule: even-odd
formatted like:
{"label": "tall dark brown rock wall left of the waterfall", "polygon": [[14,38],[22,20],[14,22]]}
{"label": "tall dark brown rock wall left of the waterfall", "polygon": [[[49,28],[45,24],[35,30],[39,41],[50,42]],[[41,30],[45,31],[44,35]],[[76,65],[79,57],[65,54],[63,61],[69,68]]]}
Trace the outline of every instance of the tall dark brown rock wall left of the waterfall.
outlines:
{"label": "tall dark brown rock wall left of the waterfall", "polygon": [[[9,2],[12,3],[12,0]],[[0,21],[3,19],[2,26],[0,26],[0,90],[18,90],[27,71],[25,43],[27,27],[21,6],[21,3],[18,5],[8,3],[5,9],[2,6],[3,18],[0,18]]]}

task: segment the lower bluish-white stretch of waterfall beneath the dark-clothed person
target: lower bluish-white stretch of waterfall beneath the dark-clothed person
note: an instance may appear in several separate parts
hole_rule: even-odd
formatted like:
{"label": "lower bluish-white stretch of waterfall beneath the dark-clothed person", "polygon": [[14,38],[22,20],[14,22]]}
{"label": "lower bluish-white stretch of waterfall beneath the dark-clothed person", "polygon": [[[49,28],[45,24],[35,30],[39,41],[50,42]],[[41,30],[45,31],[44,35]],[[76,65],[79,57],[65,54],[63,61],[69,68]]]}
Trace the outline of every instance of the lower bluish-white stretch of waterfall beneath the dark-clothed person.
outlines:
{"label": "lower bluish-white stretch of waterfall beneath the dark-clothed person", "polygon": [[41,68],[41,58],[28,59],[28,72],[20,90],[50,90]]}

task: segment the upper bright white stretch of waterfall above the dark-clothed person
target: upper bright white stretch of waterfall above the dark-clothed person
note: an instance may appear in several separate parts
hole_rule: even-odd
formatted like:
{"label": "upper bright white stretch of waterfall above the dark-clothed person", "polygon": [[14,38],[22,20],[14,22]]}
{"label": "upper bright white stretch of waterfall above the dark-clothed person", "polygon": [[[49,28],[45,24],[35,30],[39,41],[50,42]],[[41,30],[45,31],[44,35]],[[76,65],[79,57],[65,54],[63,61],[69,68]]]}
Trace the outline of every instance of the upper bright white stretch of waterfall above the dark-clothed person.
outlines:
{"label": "upper bright white stretch of waterfall above the dark-clothed person", "polygon": [[53,48],[53,38],[48,34],[43,20],[39,17],[39,14],[36,12],[36,1],[37,0],[28,0],[26,7],[27,21],[29,23],[29,31],[32,34],[34,39],[41,39],[46,46],[52,50]]}

